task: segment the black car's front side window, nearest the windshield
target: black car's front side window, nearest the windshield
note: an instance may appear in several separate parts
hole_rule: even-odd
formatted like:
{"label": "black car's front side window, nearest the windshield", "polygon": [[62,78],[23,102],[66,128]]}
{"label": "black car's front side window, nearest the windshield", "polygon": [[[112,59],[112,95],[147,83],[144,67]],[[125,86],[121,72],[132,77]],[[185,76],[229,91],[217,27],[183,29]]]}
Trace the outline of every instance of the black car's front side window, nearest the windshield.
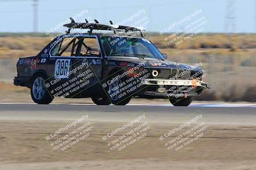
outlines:
{"label": "black car's front side window, nearest the windshield", "polygon": [[81,57],[100,57],[99,46],[96,38],[84,37],[79,40],[81,43],[81,50],[79,56]]}

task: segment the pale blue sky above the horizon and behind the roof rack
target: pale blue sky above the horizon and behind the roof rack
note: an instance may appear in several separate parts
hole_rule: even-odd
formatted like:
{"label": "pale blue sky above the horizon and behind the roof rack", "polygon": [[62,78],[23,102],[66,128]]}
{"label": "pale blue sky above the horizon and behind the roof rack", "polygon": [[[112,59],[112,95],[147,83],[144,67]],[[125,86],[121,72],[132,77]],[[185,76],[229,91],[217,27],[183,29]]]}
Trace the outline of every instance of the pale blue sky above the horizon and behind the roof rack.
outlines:
{"label": "pale blue sky above the horizon and behind the roof rack", "polygon": [[[234,6],[228,8],[234,10],[232,17],[235,18],[227,24],[226,0],[38,0],[38,32],[61,32],[65,28],[60,25],[69,17],[76,17],[77,21],[88,18],[90,22],[97,19],[103,24],[109,20],[124,25],[144,22],[147,31],[159,32],[196,11],[200,13],[170,32],[179,31],[201,17],[207,20],[202,32],[256,32],[256,0],[234,2]],[[32,32],[32,4],[32,0],[0,0],[0,32]],[[141,11],[140,16],[134,17]]]}

